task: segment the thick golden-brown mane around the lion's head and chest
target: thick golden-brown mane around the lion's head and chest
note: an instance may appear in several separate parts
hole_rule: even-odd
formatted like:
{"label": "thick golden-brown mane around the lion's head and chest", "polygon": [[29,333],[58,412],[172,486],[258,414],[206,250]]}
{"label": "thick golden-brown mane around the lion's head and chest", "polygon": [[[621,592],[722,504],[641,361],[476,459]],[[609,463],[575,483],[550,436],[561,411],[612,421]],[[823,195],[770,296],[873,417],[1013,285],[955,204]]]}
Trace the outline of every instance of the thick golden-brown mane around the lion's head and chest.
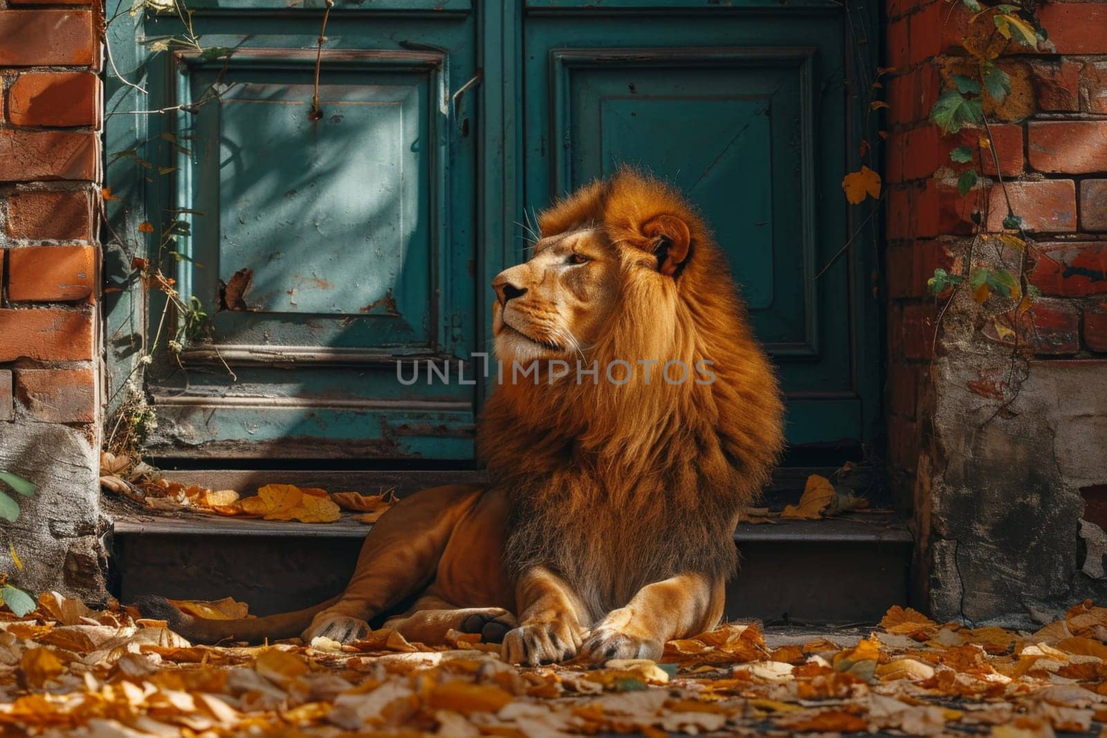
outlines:
{"label": "thick golden-brown mane around the lion's head and chest", "polygon": [[[691,235],[675,276],[656,270],[654,235],[643,232],[662,215]],[[725,254],[679,193],[629,168],[557,202],[539,225],[544,237],[597,228],[623,253],[622,283],[587,355],[598,384],[504,384],[484,410],[480,455],[513,503],[509,569],[549,567],[597,613],[677,573],[732,575],[734,527],[778,458],[784,407]],[[613,386],[602,367],[617,358],[660,363],[649,384],[637,375]],[[659,381],[670,360],[708,360],[716,378]]]}

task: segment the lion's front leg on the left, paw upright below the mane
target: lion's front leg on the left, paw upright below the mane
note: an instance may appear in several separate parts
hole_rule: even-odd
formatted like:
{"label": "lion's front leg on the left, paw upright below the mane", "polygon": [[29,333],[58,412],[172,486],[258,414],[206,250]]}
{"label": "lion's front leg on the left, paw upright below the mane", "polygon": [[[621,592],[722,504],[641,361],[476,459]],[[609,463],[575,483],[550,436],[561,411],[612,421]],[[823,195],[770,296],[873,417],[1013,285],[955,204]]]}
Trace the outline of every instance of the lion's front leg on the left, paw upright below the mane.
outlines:
{"label": "lion's front leg on the left, paw upright below the mane", "polygon": [[577,655],[586,609],[560,576],[534,567],[516,582],[519,627],[504,636],[504,659],[511,664],[548,664]]}

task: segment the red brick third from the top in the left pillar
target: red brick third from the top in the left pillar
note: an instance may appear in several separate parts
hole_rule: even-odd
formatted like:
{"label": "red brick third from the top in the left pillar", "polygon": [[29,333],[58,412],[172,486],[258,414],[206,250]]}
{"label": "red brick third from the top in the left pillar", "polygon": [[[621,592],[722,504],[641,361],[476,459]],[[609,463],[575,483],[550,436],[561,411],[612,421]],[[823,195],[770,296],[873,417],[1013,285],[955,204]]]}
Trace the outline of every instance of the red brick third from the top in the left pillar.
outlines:
{"label": "red brick third from the top in the left pillar", "polygon": [[0,131],[0,181],[100,180],[100,137],[92,131]]}

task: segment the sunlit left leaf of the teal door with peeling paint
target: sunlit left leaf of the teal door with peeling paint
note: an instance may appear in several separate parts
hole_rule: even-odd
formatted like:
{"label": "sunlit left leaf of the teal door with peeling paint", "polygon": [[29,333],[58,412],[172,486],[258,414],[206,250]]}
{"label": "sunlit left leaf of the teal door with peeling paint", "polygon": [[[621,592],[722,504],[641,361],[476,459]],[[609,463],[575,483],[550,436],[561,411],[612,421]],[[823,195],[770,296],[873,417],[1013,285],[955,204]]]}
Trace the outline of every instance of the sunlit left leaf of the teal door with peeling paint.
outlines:
{"label": "sunlit left leaf of the teal door with peeling paint", "polygon": [[[174,174],[155,237],[172,236],[180,299],[208,316],[156,354],[149,448],[467,461],[475,141],[451,97],[476,74],[472,14],[332,19],[317,93],[303,46],[320,15],[258,8],[203,15],[206,44],[235,51],[175,53],[155,86],[189,113],[161,135]],[[427,360],[454,381],[426,382]],[[416,361],[423,378],[399,382]]]}

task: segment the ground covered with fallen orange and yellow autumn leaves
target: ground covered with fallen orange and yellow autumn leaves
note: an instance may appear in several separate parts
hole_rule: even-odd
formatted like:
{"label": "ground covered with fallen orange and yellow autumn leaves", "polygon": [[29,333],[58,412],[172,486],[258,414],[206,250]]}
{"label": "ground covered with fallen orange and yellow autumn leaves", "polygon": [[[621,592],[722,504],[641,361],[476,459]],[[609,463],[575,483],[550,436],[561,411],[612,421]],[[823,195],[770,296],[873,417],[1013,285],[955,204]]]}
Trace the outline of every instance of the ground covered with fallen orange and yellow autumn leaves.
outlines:
{"label": "ground covered with fallen orange and yellow autumn leaves", "polygon": [[731,624],[669,643],[660,664],[520,668],[461,634],[448,649],[391,631],[354,647],[193,645],[46,594],[24,617],[0,613],[0,734],[1015,737],[1107,721],[1107,609],[1090,603],[1036,633],[900,607],[871,632],[829,633]]}

